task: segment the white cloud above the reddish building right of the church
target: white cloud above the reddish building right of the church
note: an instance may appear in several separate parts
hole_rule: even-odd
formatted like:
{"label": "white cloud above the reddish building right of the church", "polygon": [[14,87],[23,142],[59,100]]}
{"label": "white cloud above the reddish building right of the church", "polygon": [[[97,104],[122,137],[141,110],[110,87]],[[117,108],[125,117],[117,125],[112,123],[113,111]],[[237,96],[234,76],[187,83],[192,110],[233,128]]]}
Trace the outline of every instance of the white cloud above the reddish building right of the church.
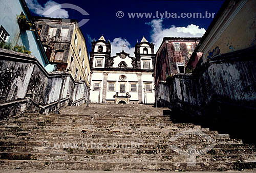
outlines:
{"label": "white cloud above the reddish building right of the church", "polygon": [[152,42],[155,44],[155,52],[163,41],[163,37],[202,37],[205,33],[204,28],[199,28],[195,24],[189,24],[187,27],[175,27],[163,28],[163,19],[154,19],[151,22],[147,22],[152,27]]}

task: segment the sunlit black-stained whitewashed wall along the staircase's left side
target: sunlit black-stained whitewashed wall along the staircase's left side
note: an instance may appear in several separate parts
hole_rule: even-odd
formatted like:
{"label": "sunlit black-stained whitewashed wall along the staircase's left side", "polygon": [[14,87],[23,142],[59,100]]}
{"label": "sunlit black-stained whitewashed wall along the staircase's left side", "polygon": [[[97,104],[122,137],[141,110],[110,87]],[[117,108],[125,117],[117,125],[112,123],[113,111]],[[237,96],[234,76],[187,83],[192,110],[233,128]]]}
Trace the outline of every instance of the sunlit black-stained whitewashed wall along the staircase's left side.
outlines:
{"label": "sunlit black-stained whitewashed wall along the staircase's left side", "polygon": [[[0,118],[20,111],[57,109],[63,72],[47,72],[35,57],[0,49]],[[87,85],[66,73],[60,106],[85,102]]]}

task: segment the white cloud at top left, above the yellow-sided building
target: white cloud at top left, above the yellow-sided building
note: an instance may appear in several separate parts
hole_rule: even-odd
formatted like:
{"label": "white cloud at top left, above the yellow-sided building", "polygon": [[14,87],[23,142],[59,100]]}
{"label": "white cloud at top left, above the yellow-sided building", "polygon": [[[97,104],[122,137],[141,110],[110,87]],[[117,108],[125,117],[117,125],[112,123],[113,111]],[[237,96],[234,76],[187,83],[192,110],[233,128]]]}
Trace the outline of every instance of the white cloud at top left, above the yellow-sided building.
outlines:
{"label": "white cloud at top left, above the yellow-sided building", "polygon": [[[25,0],[29,9],[40,16],[54,17],[54,18],[69,18],[69,13],[65,9],[61,9],[61,5],[54,2],[48,1],[44,6],[41,6],[37,0]],[[52,9],[51,9],[52,8]],[[52,13],[45,15],[44,13],[51,9]]]}

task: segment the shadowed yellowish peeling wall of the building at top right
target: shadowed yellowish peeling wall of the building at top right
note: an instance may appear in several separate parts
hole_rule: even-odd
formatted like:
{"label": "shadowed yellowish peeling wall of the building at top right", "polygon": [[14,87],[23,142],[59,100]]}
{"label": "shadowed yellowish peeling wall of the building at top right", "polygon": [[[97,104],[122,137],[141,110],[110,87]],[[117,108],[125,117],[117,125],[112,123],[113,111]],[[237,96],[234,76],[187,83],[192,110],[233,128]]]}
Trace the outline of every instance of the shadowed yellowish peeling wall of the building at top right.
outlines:
{"label": "shadowed yellowish peeling wall of the building at top right", "polygon": [[[235,2],[235,3],[234,3]],[[203,60],[206,62],[216,47],[219,47],[220,54],[256,45],[256,1],[230,1],[230,14],[225,17],[226,9],[219,23],[212,29],[214,34],[209,38],[207,45],[201,46],[199,52],[203,52]],[[206,43],[207,39],[205,39]]]}

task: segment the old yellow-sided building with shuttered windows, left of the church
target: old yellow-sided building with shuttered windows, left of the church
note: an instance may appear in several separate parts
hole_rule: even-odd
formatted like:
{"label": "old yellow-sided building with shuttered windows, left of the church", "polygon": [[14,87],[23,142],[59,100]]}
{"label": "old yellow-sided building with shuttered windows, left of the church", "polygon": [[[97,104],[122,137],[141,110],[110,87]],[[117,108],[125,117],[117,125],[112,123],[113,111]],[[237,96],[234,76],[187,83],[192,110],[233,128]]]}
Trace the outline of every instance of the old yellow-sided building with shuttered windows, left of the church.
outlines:
{"label": "old yellow-sided building with shuttered windows, left of the church", "polygon": [[33,21],[47,58],[56,64],[56,70],[70,71],[75,81],[85,80],[89,85],[89,56],[77,20],[33,17]]}

